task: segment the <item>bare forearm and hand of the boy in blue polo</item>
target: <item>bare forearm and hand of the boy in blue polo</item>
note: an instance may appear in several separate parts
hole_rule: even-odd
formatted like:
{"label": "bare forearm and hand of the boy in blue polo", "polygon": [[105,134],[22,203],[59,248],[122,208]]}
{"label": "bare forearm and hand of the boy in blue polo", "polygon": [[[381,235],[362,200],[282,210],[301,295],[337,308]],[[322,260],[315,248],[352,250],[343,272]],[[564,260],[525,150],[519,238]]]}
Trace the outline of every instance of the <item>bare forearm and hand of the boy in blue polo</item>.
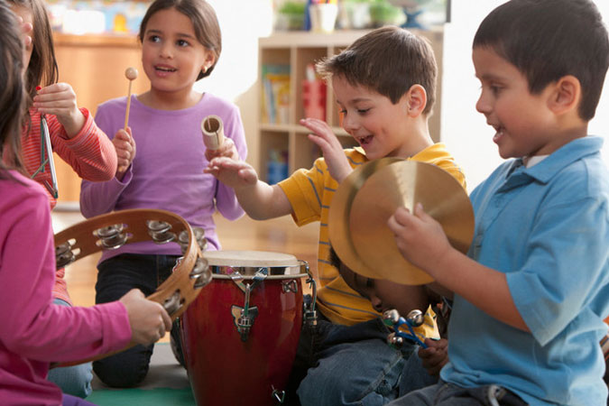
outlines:
{"label": "bare forearm and hand of the boy in blue polo", "polygon": [[387,224],[409,262],[490,316],[529,331],[512,299],[505,274],[476,263],[453,248],[442,226],[420,204],[414,214],[407,208],[398,208]]}

